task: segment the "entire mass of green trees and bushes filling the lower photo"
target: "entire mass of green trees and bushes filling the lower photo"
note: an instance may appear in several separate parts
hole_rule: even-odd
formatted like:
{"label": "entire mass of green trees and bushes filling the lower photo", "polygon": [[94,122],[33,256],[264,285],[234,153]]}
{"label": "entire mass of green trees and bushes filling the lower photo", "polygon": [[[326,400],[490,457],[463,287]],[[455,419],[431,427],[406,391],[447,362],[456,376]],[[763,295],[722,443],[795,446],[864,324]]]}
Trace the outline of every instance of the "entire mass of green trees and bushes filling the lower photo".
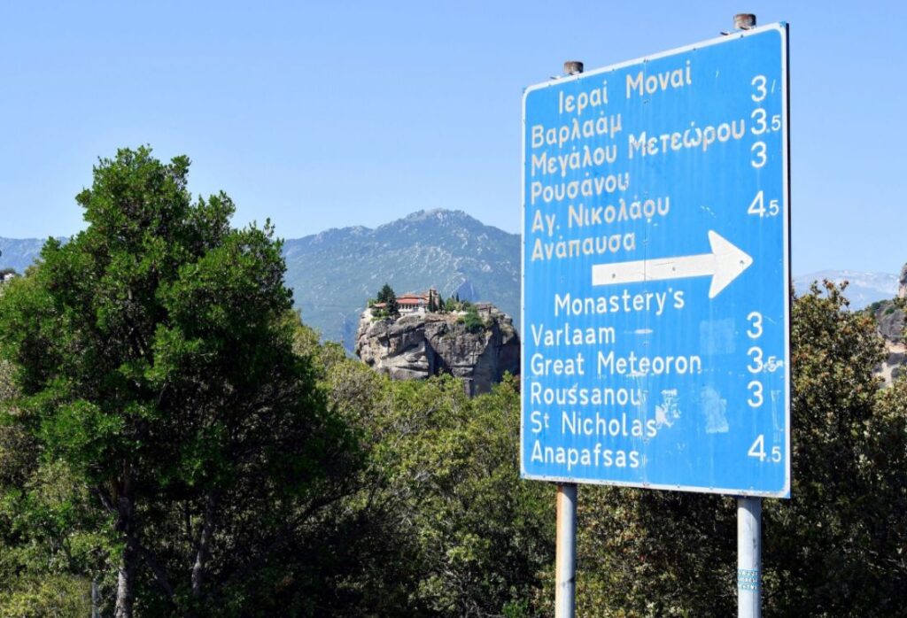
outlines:
{"label": "entire mass of green trees and bushes filling the lower photo", "polygon": [[[92,582],[105,616],[551,615],[519,382],[470,399],[320,343],[271,228],[191,202],[188,167],[102,160],[86,230],[2,288],[0,616],[88,615]],[[879,388],[872,319],[834,285],[792,321],[766,614],[902,615],[907,380]],[[734,613],[733,498],[582,487],[578,547],[579,615]]]}

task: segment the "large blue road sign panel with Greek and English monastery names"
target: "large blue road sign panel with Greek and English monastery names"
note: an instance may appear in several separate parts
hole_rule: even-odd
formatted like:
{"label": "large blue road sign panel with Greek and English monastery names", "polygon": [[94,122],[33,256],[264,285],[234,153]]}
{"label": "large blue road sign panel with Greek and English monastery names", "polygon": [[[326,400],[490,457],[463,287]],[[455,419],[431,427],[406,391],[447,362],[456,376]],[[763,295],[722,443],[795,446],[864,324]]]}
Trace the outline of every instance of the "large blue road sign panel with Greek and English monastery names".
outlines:
{"label": "large blue road sign panel with Greek and English monastery names", "polygon": [[787,27],[527,89],[524,478],[790,496]]}

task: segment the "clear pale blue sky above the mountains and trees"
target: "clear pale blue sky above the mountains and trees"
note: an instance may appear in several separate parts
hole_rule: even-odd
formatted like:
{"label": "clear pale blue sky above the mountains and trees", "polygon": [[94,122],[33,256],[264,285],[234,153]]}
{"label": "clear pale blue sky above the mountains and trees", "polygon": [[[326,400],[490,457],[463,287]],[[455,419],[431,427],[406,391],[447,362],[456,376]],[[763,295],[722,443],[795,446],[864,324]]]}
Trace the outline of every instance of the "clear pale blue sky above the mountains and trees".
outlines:
{"label": "clear pale blue sky above the mountains and trees", "polygon": [[[823,8],[825,7],[825,8]],[[791,24],[795,273],[907,261],[907,5],[5,3],[0,236],[68,236],[100,156],[151,144],[283,237],[460,208],[520,227],[522,88]]]}

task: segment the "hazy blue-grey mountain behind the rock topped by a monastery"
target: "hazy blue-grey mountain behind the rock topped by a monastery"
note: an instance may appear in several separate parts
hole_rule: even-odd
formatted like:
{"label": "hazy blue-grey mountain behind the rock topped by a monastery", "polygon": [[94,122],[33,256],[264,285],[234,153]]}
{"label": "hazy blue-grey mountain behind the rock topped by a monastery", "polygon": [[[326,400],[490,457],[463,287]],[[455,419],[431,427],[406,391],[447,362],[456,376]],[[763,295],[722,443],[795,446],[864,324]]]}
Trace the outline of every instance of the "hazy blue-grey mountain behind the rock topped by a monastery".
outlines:
{"label": "hazy blue-grey mountain behind the rock topped by a monastery", "polygon": [[459,210],[422,210],[384,226],[288,240],[288,285],[303,321],[352,350],[366,299],[385,282],[400,295],[434,285],[488,301],[519,322],[520,237]]}

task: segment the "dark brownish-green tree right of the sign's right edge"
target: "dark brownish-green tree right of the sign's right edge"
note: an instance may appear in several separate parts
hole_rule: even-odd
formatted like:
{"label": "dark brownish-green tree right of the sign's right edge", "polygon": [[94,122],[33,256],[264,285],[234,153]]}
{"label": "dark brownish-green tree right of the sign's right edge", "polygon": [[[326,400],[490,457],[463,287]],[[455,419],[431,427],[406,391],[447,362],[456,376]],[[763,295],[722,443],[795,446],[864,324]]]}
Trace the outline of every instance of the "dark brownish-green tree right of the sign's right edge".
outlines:
{"label": "dark brownish-green tree right of the sign's right edge", "polygon": [[796,299],[791,323],[792,499],[766,501],[767,603],[786,615],[902,613],[907,536],[892,522],[904,486],[892,485],[907,434],[892,429],[907,409],[880,406],[883,342],[828,283]]}

